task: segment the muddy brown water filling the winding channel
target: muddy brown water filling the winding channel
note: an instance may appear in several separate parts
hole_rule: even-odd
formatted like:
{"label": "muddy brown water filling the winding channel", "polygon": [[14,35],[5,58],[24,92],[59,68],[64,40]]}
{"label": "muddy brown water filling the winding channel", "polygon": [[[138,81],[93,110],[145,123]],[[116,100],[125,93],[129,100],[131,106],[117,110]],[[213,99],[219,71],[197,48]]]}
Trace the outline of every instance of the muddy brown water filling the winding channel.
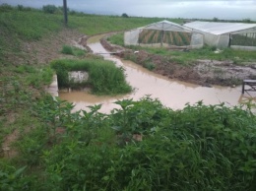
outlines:
{"label": "muddy brown water filling the winding channel", "polygon": [[59,93],[62,99],[75,104],[75,110],[88,110],[87,106],[102,104],[100,112],[108,113],[118,105],[113,103],[118,99],[133,98],[138,100],[143,96],[151,96],[160,99],[160,102],[172,109],[182,109],[186,103],[194,104],[203,100],[205,104],[218,104],[224,102],[226,105],[237,105],[241,100],[248,98],[248,95],[241,95],[241,87],[206,88],[189,83],[169,80],[163,76],[155,74],[131,61],[121,60],[110,54],[99,43],[102,35],[89,39],[88,45],[94,53],[101,54],[104,59],[114,61],[116,65],[125,69],[127,82],[135,89],[130,95],[125,96],[94,96],[86,92]]}

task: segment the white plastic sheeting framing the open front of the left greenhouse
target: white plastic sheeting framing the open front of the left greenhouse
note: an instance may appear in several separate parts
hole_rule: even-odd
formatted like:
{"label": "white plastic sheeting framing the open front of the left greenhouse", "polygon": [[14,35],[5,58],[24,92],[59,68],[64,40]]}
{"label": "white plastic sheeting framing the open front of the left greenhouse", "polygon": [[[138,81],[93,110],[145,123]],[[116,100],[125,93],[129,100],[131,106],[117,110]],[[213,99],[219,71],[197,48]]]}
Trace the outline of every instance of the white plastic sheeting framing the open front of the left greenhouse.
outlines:
{"label": "white plastic sheeting framing the open front of the left greenhouse", "polygon": [[140,36],[140,33],[143,32],[144,30],[156,30],[156,31],[162,31],[162,32],[189,32],[189,33],[192,33],[191,41],[189,45],[190,48],[200,48],[204,44],[202,33],[194,32],[189,28],[180,26],[178,24],[175,24],[169,21],[162,21],[162,22],[154,23],[142,28],[124,32],[124,44],[125,45],[143,45],[139,43],[139,36]]}

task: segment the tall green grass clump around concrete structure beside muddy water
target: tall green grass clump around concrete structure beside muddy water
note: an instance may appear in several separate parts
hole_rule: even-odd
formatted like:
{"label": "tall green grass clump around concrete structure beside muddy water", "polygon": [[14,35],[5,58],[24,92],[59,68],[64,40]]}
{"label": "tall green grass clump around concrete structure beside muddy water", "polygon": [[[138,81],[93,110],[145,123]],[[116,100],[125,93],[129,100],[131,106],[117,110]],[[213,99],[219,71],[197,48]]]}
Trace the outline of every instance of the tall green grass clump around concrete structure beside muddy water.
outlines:
{"label": "tall green grass clump around concrete structure beside muddy water", "polygon": [[77,88],[77,83],[69,81],[69,71],[87,71],[89,80],[81,86],[92,87],[97,95],[126,94],[132,88],[126,83],[123,68],[103,59],[55,60],[51,63],[58,76],[60,88]]}

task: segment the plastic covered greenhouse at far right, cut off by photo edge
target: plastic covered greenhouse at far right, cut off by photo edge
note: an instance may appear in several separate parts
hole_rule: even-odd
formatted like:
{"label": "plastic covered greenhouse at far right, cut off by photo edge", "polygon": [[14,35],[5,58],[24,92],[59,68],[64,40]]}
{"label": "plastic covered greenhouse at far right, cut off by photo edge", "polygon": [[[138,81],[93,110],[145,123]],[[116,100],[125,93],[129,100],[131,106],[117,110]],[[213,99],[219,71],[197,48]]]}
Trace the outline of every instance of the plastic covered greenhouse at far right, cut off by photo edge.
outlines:
{"label": "plastic covered greenhouse at far right, cut off by photo edge", "polygon": [[184,26],[204,33],[205,44],[256,50],[256,24],[192,22]]}

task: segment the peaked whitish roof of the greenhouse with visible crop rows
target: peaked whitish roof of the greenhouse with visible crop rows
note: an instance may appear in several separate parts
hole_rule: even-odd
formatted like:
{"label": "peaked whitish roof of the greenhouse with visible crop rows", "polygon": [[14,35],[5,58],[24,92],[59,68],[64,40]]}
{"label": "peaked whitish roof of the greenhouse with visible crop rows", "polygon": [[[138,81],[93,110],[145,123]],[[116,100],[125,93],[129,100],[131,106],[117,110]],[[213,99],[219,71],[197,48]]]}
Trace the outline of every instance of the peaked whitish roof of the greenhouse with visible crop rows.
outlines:
{"label": "peaked whitish roof of the greenhouse with visible crop rows", "polygon": [[169,21],[161,21],[158,23],[154,23],[140,29],[143,30],[160,30],[160,31],[171,31],[171,32],[193,32],[191,29],[186,28],[184,26],[180,26],[178,24],[169,22]]}

